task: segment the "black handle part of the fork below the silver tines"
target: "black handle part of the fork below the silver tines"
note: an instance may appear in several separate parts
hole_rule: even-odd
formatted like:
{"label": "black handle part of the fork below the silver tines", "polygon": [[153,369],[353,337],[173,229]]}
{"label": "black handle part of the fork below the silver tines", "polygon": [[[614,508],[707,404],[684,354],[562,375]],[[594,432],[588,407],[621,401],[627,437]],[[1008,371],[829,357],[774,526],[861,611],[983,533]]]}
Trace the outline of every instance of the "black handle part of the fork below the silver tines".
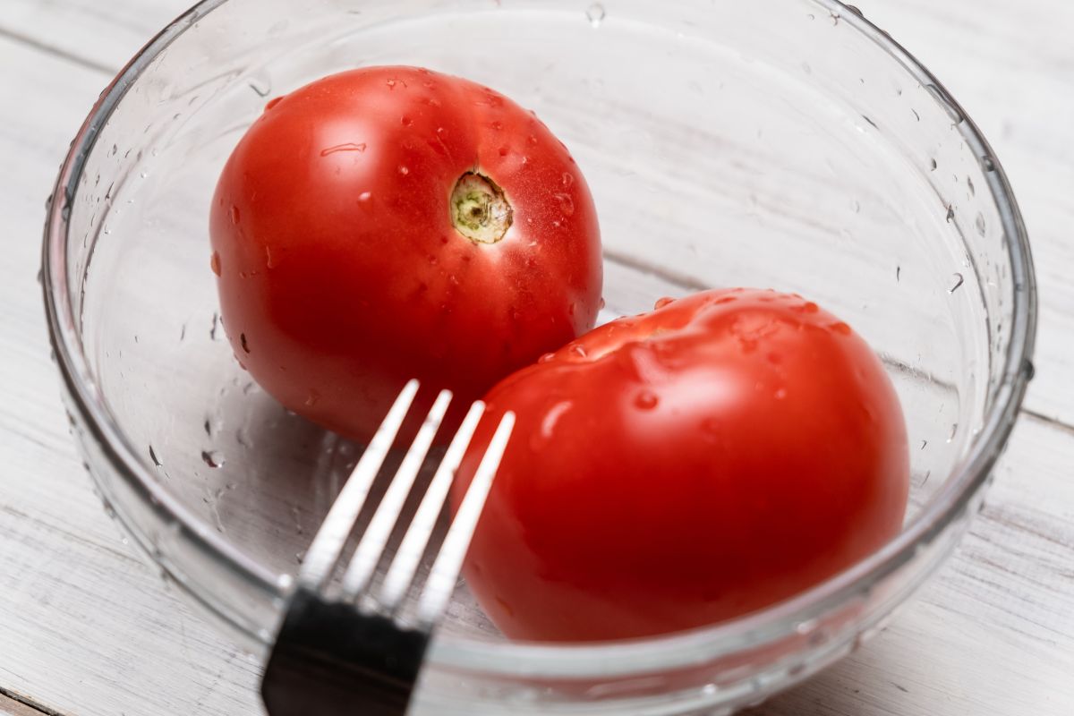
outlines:
{"label": "black handle part of the fork below the silver tines", "polygon": [[261,681],[271,716],[403,716],[430,634],[299,587]]}

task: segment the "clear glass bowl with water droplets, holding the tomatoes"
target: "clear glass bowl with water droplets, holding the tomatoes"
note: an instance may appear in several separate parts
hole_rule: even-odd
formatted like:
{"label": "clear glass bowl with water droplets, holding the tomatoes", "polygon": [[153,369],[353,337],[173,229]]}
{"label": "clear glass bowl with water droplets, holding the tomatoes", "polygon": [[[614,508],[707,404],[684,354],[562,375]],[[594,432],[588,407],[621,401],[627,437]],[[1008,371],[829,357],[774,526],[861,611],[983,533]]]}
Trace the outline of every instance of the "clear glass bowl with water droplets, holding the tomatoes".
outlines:
{"label": "clear glass bowl with water droplets, holding the tomatoes", "polygon": [[509,643],[461,588],[419,712],[729,713],[872,633],[981,503],[1032,372],[1035,293],[1018,208],[976,127],[832,0],[206,0],[176,20],[75,137],[44,246],[73,430],[134,541],[264,649],[360,449],[236,365],[208,268],[209,196],[268,98],[375,63],[485,83],[570,146],[600,211],[605,319],[707,287],[800,292],[881,353],[912,440],[902,534],[731,623]]}

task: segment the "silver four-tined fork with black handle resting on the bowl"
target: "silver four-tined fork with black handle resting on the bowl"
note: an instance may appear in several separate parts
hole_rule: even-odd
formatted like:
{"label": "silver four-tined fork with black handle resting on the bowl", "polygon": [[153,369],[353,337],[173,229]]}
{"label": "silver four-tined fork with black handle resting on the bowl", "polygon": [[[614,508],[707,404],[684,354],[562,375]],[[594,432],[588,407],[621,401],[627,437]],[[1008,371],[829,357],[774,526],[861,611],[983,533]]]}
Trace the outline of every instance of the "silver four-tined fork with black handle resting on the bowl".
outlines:
{"label": "silver four-tined fork with black handle resting on the bowl", "polygon": [[330,594],[329,586],[417,392],[418,381],[411,380],[400,393],[306,552],[261,682],[271,716],[406,713],[431,633],[451,599],[514,426],[513,413],[505,413],[421,587],[416,616],[404,622],[400,615],[405,597],[455,470],[484,413],[481,401],[470,407],[452,438],[379,587],[373,586],[373,576],[447,412],[449,391],[436,398],[407,450],[361,536],[338,591]]}

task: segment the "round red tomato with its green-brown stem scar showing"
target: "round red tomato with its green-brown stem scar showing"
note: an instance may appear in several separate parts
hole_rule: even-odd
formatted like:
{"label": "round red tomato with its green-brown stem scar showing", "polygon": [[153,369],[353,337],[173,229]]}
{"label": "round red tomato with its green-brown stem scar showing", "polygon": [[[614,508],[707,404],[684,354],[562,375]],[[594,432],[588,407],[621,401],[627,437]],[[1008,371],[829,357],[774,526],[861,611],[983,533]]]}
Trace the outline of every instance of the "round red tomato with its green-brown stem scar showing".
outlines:
{"label": "round red tomato with its green-brown stem scar showing", "polygon": [[217,186],[213,268],[235,354],[351,437],[409,378],[461,405],[593,327],[593,200],[532,113],[418,68],[268,103]]}

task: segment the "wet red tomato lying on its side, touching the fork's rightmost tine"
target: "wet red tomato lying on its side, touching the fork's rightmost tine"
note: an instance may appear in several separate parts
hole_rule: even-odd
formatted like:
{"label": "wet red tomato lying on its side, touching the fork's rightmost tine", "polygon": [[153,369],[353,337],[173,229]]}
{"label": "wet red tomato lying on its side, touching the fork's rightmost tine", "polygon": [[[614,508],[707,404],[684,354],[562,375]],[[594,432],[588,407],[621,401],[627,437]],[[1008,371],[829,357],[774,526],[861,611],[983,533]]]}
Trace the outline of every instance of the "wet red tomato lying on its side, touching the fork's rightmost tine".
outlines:
{"label": "wet red tomato lying on its side, touching the fork's rightmost tine", "polygon": [[902,524],[909,451],[891,383],[846,323],[798,296],[662,299],[487,400],[477,445],[505,411],[518,422],[466,575],[511,638],[736,617],[852,566]]}

